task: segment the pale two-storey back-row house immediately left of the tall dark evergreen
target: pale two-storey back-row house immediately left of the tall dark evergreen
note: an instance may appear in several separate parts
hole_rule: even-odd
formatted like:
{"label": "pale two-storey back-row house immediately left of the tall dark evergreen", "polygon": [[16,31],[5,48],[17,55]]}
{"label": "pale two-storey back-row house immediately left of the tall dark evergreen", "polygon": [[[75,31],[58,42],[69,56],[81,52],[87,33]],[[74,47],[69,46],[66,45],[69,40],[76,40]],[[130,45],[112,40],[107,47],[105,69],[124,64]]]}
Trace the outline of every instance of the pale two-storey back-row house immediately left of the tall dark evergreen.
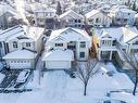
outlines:
{"label": "pale two-storey back-row house immediately left of the tall dark evergreen", "polygon": [[57,10],[52,8],[39,9],[34,12],[35,14],[35,24],[37,26],[46,27],[47,29],[55,28],[55,20],[57,20]]}

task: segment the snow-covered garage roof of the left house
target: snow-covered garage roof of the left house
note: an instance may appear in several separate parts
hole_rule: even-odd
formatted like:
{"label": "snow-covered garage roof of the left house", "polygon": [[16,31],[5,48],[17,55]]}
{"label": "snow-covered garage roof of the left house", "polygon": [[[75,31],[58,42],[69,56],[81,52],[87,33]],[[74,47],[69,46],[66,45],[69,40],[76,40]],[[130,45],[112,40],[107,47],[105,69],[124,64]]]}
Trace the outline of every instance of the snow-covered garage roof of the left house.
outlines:
{"label": "snow-covered garage roof of the left house", "polygon": [[4,55],[2,59],[4,60],[14,60],[14,59],[35,59],[36,57],[36,53],[29,50],[16,50],[13,52],[8,53],[7,55]]}

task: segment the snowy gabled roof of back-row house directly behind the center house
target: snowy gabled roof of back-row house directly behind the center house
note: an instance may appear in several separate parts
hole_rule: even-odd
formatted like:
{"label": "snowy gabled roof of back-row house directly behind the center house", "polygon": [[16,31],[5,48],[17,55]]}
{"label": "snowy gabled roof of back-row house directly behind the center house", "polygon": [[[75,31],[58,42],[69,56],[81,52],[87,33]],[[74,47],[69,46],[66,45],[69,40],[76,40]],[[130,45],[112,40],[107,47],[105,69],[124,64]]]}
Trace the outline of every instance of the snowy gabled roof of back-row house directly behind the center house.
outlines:
{"label": "snowy gabled roof of back-row house directly behind the center house", "polygon": [[66,16],[73,17],[73,18],[83,18],[83,15],[74,12],[73,10],[70,10],[63,14],[60,15],[60,18],[64,18]]}

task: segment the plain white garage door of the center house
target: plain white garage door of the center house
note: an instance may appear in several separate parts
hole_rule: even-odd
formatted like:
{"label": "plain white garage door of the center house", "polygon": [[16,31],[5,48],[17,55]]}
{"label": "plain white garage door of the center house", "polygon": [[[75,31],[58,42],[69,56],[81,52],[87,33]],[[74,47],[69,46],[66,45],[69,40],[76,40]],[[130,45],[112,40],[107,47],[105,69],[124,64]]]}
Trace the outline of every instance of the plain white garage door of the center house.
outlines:
{"label": "plain white garage door of the center house", "polygon": [[47,61],[46,62],[46,68],[71,68],[71,62],[70,61]]}

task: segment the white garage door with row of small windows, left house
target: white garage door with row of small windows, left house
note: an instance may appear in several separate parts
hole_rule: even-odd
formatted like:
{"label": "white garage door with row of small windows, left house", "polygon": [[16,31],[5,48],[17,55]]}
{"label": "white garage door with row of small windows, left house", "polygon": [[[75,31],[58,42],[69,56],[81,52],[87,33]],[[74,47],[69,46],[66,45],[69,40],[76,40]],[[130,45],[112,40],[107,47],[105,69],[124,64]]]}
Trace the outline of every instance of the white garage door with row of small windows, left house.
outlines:
{"label": "white garage door with row of small windows, left house", "polygon": [[30,68],[30,61],[29,62],[10,62],[10,68]]}

